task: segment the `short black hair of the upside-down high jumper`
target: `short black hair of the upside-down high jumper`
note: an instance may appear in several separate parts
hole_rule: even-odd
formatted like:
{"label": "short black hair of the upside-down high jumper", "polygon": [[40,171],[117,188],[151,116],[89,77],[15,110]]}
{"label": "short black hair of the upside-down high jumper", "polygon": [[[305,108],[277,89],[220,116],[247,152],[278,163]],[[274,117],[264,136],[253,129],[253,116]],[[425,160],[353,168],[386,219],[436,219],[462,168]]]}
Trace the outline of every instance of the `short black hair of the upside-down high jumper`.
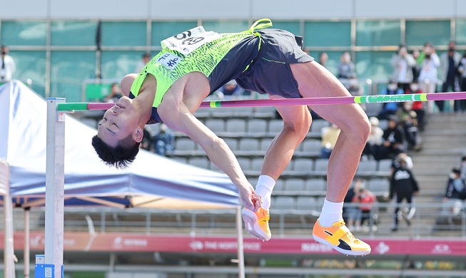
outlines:
{"label": "short black hair of the upside-down high jumper", "polygon": [[116,147],[111,147],[95,135],[92,138],[92,146],[101,160],[109,166],[117,169],[127,168],[136,158],[139,151],[139,143],[133,140],[131,135],[118,142]]}

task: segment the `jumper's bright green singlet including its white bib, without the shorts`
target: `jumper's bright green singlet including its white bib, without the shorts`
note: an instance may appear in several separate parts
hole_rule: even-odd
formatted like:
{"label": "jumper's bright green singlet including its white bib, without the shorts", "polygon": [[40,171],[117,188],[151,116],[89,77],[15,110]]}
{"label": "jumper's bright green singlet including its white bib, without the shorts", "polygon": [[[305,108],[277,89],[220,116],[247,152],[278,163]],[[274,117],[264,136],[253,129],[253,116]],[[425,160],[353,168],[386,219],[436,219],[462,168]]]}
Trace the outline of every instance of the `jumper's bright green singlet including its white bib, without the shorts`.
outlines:
{"label": "jumper's bright green singlet including its white bib, without the shorts", "polygon": [[[213,31],[204,31],[202,26],[198,26],[167,38],[161,42],[163,50],[146,64],[133,81],[131,94],[134,97],[138,95],[144,79],[150,73],[157,79],[153,107],[158,107],[168,88],[181,76],[195,71],[207,77],[211,76],[218,63],[238,42],[245,38],[258,37],[260,35],[254,32],[256,29],[271,26],[270,20],[265,24],[259,24],[260,21],[256,21],[248,31],[242,33],[218,34]],[[216,89],[211,88],[211,90]]]}

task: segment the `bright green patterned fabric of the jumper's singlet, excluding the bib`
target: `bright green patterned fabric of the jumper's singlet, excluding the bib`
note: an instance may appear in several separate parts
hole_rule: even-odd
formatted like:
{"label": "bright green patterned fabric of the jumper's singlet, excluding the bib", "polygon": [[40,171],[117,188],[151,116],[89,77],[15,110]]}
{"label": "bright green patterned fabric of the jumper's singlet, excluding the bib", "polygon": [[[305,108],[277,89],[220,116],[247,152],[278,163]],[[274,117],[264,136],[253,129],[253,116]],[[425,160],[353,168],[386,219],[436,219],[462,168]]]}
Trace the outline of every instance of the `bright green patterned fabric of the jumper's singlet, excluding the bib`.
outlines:
{"label": "bright green patterned fabric of the jumper's singlet, excluding the bib", "polygon": [[[203,44],[188,55],[183,55],[178,51],[164,48],[155,57],[153,57],[143,68],[141,73],[138,74],[138,77],[136,77],[131,86],[131,93],[135,97],[138,96],[144,79],[146,79],[148,73],[151,73],[151,75],[155,76],[157,80],[156,97],[154,98],[152,106],[158,107],[162,101],[163,95],[165,95],[173,83],[181,78],[181,76],[195,71],[199,71],[207,77],[210,76],[218,63],[220,63],[228,51],[230,51],[231,48],[233,48],[239,41],[250,36],[260,37],[260,34],[256,32],[256,30],[264,29],[269,26],[272,26],[272,21],[270,21],[270,19],[260,19],[255,21],[247,31],[243,31],[241,33],[220,34],[221,38]],[[173,69],[169,69],[162,63],[157,62],[161,56],[166,55],[167,53],[180,58]],[[198,61],[202,62],[199,63]],[[249,66],[247,66],[245,70],[247,70],[248,67]]]}

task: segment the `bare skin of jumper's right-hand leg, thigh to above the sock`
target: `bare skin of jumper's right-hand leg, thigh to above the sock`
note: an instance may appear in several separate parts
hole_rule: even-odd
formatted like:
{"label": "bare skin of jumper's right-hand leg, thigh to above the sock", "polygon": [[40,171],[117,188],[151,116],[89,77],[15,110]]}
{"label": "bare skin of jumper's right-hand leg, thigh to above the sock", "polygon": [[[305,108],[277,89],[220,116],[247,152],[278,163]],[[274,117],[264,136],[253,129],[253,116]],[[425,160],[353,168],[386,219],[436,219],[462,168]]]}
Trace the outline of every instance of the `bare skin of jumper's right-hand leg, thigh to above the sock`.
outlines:
{"label": "bare skin of jumper's right-hand leg, thigh to above the sock", "polygon": [[[332,73],[316,62],[292,64],[291,69],[304,98],[351,96]],[[313,105],[311,108],[341,130],[328,161],[326,199],[343,202],[370,133],[368,116],[358,104]]]}

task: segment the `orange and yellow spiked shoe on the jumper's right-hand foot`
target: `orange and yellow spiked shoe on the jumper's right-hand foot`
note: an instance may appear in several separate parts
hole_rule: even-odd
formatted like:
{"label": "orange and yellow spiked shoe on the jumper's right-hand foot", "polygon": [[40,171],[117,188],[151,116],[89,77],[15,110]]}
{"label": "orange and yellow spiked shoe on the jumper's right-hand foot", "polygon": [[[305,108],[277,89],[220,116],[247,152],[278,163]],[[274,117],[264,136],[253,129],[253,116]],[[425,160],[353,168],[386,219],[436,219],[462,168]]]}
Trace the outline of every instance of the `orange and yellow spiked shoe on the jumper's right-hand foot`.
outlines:
{"label": "orange and yellow spiked shoe on the jumper's right-hand foot", "polygon": [[313,228],[314,240],[348,255],[366,255],[370,253],[369,244],[353,236],[343,220],[334,222],[330,227],[320,226],[319,220]]}

